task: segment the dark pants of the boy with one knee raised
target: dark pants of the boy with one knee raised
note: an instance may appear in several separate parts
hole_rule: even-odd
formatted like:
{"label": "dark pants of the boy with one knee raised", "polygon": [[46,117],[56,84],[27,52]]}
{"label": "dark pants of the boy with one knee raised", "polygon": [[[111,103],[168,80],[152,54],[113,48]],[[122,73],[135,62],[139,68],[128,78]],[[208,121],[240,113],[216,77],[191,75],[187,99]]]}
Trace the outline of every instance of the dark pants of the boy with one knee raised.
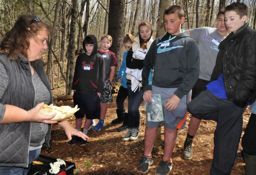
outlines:
{"label": "dark pants of the boy with one knee raised", "polygon": [[193,116],[217,122],[211,175],[230,175],[242,134],[245,109],[246,106],[238,107],[227,99],[214,96],[209,90],[188,103],[187,111]]}

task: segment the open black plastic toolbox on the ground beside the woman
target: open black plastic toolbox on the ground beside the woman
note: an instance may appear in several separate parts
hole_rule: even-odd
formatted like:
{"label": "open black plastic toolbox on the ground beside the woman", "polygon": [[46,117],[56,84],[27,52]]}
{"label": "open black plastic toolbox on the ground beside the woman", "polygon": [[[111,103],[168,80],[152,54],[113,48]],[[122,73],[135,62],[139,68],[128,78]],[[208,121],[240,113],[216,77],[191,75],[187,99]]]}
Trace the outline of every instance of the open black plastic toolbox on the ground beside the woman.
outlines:
{"label": "open black plastic toolbox on the ground beside the woman", "polygon": [[51,174],[49,170],[51,169],[50,163],[57,162],[56,158],[39,155],[37,161],[42,162],[42,165],[30,165],[30,170],[28,175],[73,175],[75,169],[75,164],[72,162],[66,162],[66,165],[60,165],[60,171],[57,174]]}

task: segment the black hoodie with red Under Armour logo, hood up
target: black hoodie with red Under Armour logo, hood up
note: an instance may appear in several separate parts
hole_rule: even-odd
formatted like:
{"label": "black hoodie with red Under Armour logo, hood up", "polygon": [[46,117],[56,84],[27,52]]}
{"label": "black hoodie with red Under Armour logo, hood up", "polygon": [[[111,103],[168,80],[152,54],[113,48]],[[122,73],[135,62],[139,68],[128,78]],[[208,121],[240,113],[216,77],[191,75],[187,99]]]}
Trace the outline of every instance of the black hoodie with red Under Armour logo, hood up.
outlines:
{"label": "black hoodie with red Under Armour logo, hood up", "polygon": [[96,37],[94,35],[87,35],[87,37],[93,40],[93,52],[90,55],[86,54],[84,40],[85,53],[79,55],[76,59],[72,90],[85,94],[102,93],[105,80],[104,59],[97,53],[98,42]]}

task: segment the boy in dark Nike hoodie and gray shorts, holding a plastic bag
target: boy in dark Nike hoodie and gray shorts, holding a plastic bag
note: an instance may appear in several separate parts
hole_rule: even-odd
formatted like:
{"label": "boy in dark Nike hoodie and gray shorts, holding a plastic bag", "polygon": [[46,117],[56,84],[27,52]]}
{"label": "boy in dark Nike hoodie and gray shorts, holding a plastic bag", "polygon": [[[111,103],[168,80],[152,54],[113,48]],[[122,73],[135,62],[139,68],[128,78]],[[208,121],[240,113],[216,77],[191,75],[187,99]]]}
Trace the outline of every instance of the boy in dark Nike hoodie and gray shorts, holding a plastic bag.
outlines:
{"label": "boy in dark Nike hoodie and gray shorts, holding a plastic bag", "polygon": [[[140,173],[146,173],[153,164],[151,151],[157,136],[157,128],[165,126],[164,154],[156,175],[167,175],[172,169],[172,151],[177,129],[184,129],[187,103],[191,89],[199,77],[199,48],[181,25],[184,11],[178,5],[167,8],[163,15],[166,35],[153,41],[144,59],[142,69],[143,99],[152,102],[152,94],[160,94],[164,121],[146,122],[144,155],[138,166]],[[152,85],[148,83],[150,70],[154,69]],[[185,117],[184,117],[185,116]]]}

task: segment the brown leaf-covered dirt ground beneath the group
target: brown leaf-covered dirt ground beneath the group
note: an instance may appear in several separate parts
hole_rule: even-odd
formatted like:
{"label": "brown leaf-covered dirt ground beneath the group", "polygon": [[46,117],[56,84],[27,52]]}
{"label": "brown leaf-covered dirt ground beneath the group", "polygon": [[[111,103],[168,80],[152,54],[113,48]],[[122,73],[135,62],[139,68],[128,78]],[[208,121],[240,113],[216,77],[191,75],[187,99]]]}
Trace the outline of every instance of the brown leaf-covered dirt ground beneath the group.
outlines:
{"label": "brown leaf-covered dirt ground beneath the group", "polygon": [[[53,94],[59,94],[61,90],[54,89]],[[63,92],[63,91],[62,91]],[[62,128],[53,125],[51,133],[50,150],[42,150],[43,155],[60,158],[66,161],[74,162],[76,169],[75,175],[139,175],[137,171],[138,163],[143,153],[143,139],[145,132],[144,107],[140,107],[140,135],[136,141],[122,141],[125,132],[117,132],[116,129],[122,124],[112,125],[111,121],[116,118],[116,94],[113,94],[114,102],[108,105],[108,111],[105,118],[105,124],[100,132],[88,131],[89,144],[81,147],[79,143],[74,146],[68,145],[67,136]],[[73,101],[55,101],[58,106],[70,105],[73,107]],[[127,109],[128,101],[125,101]],[[227,109],[228,110],[228,109]],[[243,132],[250,117],[248,108],[244,113]],[[69,122],[75,126],[75,117],[72,116]],[[213,135],[216,122],[203,120],[201,126],[194,138],[193,159],[183,160],[181,158],[183,144],[186,138],[190,114],[188,114],[186,127],[178,131],[178,137],[175,149],[172,155],[173,169],[170,175],[209,175],[210,166],[213,159]],[[96,123],[98,120],[96,120]],[[82,126],[83,127],[83,126]],[[242,133],[243,135],[243,133]],[[161,129],[163,140],[163,127]],[[240,146],[241,148],[241,142]],[[148,175],[154,175],[163,155],[161,146],[152,152],[154,163],[150,166]],[[245,175],[245,163],[243,159],[236,159],[232,175]]]}

